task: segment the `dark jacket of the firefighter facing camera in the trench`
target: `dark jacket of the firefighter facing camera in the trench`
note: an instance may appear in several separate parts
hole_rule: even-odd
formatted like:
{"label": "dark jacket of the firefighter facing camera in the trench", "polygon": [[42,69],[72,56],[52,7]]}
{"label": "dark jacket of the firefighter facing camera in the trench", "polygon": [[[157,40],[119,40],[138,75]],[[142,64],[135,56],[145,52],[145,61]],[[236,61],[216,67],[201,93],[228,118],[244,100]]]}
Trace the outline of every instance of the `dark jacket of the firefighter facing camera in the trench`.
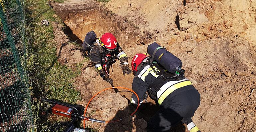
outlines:
{"label": "dark jacket of the firefighter facing camera in the trench", "polygon": [[122,68],[128,67],[127,55],[119,45],[116,50],[109,52],[100,46],[100,41],[97,39],[90,50],[90,60],[104,79],[109,77],[110,65],[115,62],[116,58],[120,60]]}

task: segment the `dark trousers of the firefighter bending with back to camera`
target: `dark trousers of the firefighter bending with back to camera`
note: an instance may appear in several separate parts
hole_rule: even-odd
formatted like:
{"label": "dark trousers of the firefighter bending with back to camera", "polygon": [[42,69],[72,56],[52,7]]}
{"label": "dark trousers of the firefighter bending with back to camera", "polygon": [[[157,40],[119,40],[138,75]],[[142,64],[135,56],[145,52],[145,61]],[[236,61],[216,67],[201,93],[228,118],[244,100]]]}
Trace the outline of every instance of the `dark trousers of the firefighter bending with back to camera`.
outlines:
{"label": "dark trousers of the firefighter bending with back to camera", "polygon": [[196,89],[178,93],[160,105],[160,109],[148,122],[148,132],[167,132],[176,123],[188,124],[200,105],[200,94]]}

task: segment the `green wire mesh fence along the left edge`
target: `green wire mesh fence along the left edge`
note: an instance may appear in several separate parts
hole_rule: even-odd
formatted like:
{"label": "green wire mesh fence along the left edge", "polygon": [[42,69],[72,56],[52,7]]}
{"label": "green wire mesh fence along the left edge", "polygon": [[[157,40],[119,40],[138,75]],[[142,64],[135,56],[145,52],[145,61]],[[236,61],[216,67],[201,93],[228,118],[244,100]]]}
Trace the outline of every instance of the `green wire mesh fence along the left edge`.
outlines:
{"label": "green wire mesh fence along the left edge", "polygon": [[0,0],[0,131],[34,131],[27,85],[24,0]]}

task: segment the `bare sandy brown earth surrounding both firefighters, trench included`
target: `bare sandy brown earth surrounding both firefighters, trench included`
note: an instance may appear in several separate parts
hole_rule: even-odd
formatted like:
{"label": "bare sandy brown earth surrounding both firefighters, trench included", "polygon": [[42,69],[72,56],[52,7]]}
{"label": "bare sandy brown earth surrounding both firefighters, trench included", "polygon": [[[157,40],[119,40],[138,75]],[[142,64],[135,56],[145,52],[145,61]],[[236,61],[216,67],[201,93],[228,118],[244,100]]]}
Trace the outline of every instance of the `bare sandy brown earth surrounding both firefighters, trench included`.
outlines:
{"label": "bare sandy brown earth surrounding both firefighters, trench included", "polygon": [[[255,0],[111,0],[105,5],[94,0],[69,0],[50,5],[67,25],[65,33],[71,40],[81,43],[90,30],[98,36],[112,32],[129,62],[134,54],[146,52],[147,45],[154,41],[178,56],[186,76],[201,94],[201,104],[193,117],[201,131],[256,131]],[[62,64],[72,67],[82,60],[77,47],[66,41],[57,47]],[[114,85],[131,88],[133,76],[123,76],[118,63],[111,73]],[[110,85],[89,62],[84,62],[81,71],[75,85],[83,98],[78,103],[86,105],[92,95]],[[99,131],[145,131],[145,120],[153,111],[147,115],[141,110],[134,117],[128,116],[134,108],[121,95],[113,91],[100,94],[90,104],[88,114],[111,120],[121,117],[121,113],[126,116],[124,120],[87,125]],[[186,130],[181,126],[176,131]]]}

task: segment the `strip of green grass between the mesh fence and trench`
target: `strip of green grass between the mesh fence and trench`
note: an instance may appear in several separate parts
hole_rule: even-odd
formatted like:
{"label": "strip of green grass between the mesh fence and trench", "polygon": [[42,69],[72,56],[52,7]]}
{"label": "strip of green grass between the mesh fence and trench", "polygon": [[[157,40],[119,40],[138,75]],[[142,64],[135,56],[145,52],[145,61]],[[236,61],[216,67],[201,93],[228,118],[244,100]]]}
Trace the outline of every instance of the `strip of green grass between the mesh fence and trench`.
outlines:
{"label": "strip of green grass between the mesh fence and trench", "polygon": [[[56,0],[57,1],[57,0]],[[62,2],[63,0],[58,0]],[[53,41],[53,27],[42,26],[41,21],[56,21],[63,24],[60,17],[48,6],[47,0],[26,0],[26,47],[29,85],[33,91],[33,115],[36,131],[50,132],[60,121],[69,119],[52,114],[42,114],[50,104],[40,102],[41,97],[55,98],[68,103],[80,99],[79,91],[73,85],[74,78],[80,74],[82,64],[76,70],[60,65],[57,62],[56,45]],[[86,59],[85,59],[86,60]],[[58,131],[63,131],[60,128]]]}

